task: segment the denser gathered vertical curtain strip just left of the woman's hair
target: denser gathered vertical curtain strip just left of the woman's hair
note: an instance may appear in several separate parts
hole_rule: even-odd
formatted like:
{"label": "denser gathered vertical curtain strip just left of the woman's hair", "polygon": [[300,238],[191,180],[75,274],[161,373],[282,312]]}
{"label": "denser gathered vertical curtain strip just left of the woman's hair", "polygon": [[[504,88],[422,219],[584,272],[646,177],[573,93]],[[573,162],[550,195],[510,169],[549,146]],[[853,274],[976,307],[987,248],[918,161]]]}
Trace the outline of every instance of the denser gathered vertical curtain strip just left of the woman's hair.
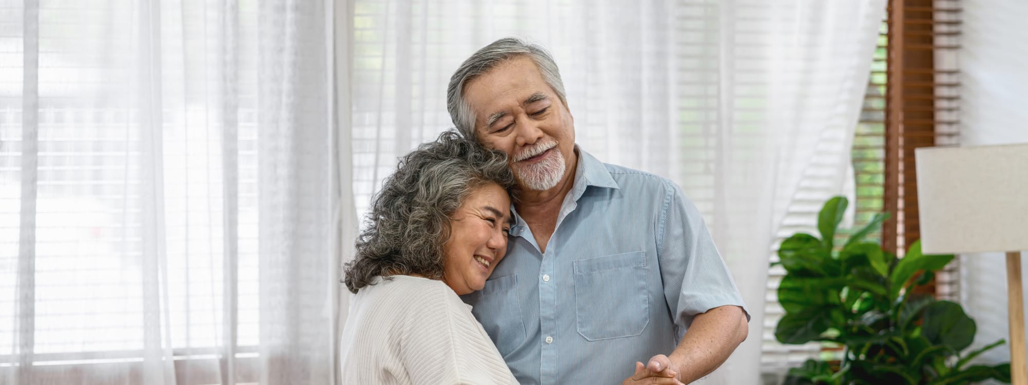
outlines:
{"label": "denser gathered vertical curtain strip just left of the woman's hair", "polygon": [[332,379],[338,207],[325,3],[260,4],[260,359],[263,384]]}

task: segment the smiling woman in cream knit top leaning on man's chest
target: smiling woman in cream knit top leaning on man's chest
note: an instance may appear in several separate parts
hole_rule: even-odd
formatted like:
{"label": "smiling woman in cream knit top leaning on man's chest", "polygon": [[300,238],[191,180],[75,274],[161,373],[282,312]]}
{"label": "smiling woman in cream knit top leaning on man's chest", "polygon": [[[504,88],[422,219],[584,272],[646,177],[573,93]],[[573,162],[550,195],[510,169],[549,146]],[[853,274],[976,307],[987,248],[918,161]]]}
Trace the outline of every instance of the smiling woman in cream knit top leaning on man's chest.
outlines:
{"label": "smiling woman in cream knit top leaning on man's chest", "polygon": [[401,159],[346,265],[344,384],[516,383],[457,297],[504,258],[514,186],[503,152],[455,132]]}

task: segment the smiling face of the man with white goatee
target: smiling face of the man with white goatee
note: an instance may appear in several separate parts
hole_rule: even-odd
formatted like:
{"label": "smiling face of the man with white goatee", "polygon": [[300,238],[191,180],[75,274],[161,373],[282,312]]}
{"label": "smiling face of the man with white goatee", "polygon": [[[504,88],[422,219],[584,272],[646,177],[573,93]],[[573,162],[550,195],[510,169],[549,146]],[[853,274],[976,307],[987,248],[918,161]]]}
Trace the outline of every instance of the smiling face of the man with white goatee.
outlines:
{"label": "smiling face of the man with white goatee", "polygon": [[475,78],[464,97],[475,113],[475,136],[510,156],[521,188],[549,190],[573,172],[574,119],[530,59]]}

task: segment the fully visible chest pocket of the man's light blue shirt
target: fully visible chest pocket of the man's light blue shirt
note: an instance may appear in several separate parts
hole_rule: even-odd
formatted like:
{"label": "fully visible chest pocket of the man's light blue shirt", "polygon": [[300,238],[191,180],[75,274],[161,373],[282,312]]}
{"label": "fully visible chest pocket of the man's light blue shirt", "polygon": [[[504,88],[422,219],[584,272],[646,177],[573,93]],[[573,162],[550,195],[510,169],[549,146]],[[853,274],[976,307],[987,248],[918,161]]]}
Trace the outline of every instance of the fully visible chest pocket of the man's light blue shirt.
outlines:
{"label": "fully visible chest pocket of the man's light blue shirt", "polygon": [[596,341],[642,334],[650,323],[646,252],[575,261],[578,332]]}

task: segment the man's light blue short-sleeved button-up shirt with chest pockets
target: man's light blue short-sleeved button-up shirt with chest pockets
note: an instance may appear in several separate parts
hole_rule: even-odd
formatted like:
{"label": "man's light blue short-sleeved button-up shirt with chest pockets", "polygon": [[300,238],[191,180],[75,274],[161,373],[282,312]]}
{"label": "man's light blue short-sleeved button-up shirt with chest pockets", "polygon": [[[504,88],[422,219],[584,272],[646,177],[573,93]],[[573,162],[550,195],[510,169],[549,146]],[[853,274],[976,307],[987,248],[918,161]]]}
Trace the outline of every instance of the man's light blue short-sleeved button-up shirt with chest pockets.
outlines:
{"label": "man's light blue short-sleeved button-up shirt with chest pockets", "polygon": [[743,306],[677,185],[576,150],[546,253],[515,213],[506,258],[462,297],[522,384],[620,384],[696,314]]}

